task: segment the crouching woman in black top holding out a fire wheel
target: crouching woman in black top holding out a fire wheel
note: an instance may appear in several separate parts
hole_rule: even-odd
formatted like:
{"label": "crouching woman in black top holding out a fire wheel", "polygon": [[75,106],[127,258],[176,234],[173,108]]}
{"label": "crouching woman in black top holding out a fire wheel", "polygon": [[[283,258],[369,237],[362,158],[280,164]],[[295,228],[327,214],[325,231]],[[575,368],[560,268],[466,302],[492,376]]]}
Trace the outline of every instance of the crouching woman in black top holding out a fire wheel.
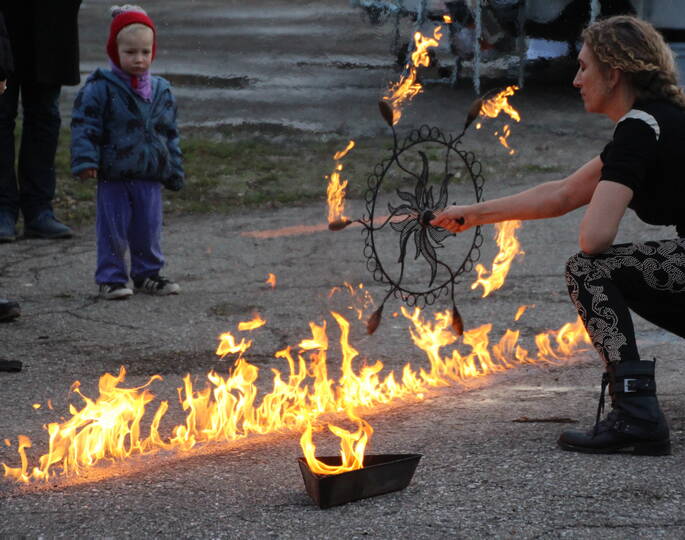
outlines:
{"label": "crouching woman in black top holding out a fire wheel", "polygon": [[[654,361],[640,358],[628,310],[685,337],[685,94],[673,54],[650,24],[611,17],[591,24],[582,38],[573,84],[588,112],[616,123],[613,140],[563,180],[446,208],[432,224],[461,232],[587,205],[581,252],[569,259],[566,282],[606,372],[595,427],[566,431],[559,445],[576,452],[667,455],[670,438],[656,397]],[[646,223],[675,225],[678,237],[612,245],[626,208]],[[607,385],[613,410],[600,422]]]}

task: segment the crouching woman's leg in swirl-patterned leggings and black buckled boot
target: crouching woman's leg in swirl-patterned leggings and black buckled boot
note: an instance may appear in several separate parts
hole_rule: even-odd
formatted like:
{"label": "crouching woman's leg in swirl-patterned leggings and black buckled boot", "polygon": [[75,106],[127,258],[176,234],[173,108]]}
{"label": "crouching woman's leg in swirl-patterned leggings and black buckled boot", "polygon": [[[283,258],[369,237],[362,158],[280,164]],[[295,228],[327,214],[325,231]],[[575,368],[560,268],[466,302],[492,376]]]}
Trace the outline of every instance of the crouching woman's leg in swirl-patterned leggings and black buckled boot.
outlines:
{"label": "crouching woman's leg in swirl-patterned leggings and black buckled boot", "polygon": [[[580,253],[569,260],[566,278],[606,373],[595,428],[562,433],[560,446],[581,452],[670,453],[668,426],[656,398],[654,362],[640,359],[629,308],[683,335],[685,241],[622,244],[597,256]],[[607,386],[613,411],[600,422]]]}

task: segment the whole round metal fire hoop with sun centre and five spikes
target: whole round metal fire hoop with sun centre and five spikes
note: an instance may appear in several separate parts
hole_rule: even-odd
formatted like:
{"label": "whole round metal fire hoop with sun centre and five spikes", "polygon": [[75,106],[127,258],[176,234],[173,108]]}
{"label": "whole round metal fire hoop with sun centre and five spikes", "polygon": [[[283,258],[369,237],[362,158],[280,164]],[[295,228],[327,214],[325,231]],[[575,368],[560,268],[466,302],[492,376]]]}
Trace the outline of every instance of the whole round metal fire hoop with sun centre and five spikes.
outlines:
{"label": "whole round metal fire hoop with sun centre and five spikes", "polygon": [[[463,333],[455,286],[480,258],[481,228],[474,227],[471,236],[455,235],[430,222],[449,200],[452,204],[482,200],[481,164],[472,152],[460,148],[481,105],[482,100],[474,102],[459,135],[424,125],[411,130],[400,142],[391,107],[385,101],[379,103],[381,115],[392,130],[393,148],[368,176],[366,214],[354,220],[363,227],[367,269],[375,281],[387,287],[383,301],[367,321],[369,334],[378,328],[385,302],[391,296],[418,307],[449,296],[452,327],[458,335]],[[340,230],[352,222],[333,222],[329,228]]]}

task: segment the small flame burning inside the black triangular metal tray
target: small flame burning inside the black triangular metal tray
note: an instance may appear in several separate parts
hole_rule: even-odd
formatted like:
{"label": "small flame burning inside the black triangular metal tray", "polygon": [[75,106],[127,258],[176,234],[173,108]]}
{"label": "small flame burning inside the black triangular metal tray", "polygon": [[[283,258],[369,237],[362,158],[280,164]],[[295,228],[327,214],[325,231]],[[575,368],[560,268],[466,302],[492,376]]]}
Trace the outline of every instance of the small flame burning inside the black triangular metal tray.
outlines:
{"label": "small flame burning inside the black triangular metal tray", "polygon": [[347,416],[355,424],[357,431],[354,433],[336,426],[328,424],[328,429],[340,438],[340,465],[327,465],[316,458],[316,446],[312,440],[312,423],[307,422],[307,426],[300,437],[300,446],[307,460],[309,469],[315,474],[340,474],[347,471],[361,469],[364,466],[364,450],[371,438],[373,428],[368,422],[359,418],[351,409],[348,409]]}

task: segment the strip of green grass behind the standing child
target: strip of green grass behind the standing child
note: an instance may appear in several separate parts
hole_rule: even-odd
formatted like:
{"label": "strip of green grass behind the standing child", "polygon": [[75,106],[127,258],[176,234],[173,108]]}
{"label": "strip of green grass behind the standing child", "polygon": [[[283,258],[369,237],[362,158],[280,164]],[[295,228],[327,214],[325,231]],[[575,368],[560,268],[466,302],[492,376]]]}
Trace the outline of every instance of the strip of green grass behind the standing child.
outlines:
{"label": "strip of green grass behind the standing child", "polygon": [[[236,208],[323,201],[325,177],[334,167],[332,156],[347,142],[303,137],[288,130],[268,134],[248,134],[240,128],[193,130],[181,141],[186,184],[179,192],[165,191],[165,212],[229,213]],[[363,194],[366,177],[387,145],[387,140],[364,141],[344,160],[343,178],[351,180],[348,196]],[[74,224],[93,220],[96,182],[71,177],[67,130],[61,134],[55,161],[58,215]]]}

